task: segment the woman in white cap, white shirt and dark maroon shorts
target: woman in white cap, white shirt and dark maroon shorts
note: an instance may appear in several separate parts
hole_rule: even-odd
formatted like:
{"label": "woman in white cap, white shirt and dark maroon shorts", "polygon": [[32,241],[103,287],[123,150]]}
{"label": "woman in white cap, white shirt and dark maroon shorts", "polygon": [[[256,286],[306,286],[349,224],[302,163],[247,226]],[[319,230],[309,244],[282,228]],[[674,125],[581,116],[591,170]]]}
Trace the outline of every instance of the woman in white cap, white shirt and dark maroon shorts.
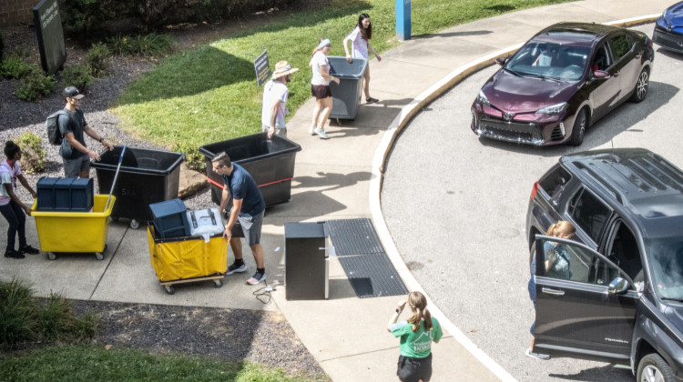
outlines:
{"label": "woman in white cap, white shirt and dark maroon shorts", "polygon": [[315,109],[313,109],[313,122],[309,133],[311,135],[321,136],[322,139],[328,139],[329,136],[325,133],[325,123],[332,111],[332,93],[330,91],[330,82],[334,81],[339,85],[339,78],[330,75],[330,60],[327,55],[330,53],[330,40],[322,38],[318,42],[318,46],[313,50],[311,55],[311,71],[313,77],[311,78],[311,95],[315,97]]}

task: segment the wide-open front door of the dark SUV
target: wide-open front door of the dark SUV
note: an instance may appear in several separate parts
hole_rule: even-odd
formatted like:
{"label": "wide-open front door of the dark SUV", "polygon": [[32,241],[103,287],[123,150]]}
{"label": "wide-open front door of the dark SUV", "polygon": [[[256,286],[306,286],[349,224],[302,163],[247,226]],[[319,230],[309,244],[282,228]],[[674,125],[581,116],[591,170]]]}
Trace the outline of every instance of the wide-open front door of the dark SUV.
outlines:
{"label": "wide-open front door of the dark SUV", "polygon": [[[558,237],[536,236],[534,352],[629,364],[639,294],[633,280],[595,250]],[[569,276],[545,269],[546,254],[563,248]],[[608,293],[622,277],[627,290]]]}

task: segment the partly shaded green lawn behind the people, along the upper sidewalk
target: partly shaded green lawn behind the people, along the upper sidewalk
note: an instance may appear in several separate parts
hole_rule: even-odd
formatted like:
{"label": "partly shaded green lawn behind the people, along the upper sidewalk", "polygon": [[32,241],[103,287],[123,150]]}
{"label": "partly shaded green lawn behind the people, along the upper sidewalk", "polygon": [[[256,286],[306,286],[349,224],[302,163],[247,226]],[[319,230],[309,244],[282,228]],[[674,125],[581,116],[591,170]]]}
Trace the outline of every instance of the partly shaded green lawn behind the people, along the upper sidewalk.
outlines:
{"label": "partly shaded green lawn behind the people, along the upper sidewalk", "polygon": [[[540,5],[568,0],[413,0],[412,35]],[[227,35],[197,49],[171,55],[128,86],[115,113],[124,126],[148,140],[188,152],[191,148],[260,132],[262,91],[253,60],[268,50],[270,67],[288,60],[300,72],[290,83],[290,116],[311,97],[311,52],[321,37],[330,55],[344,55],[343,38],[358,15],[372,18],[372,46],[382,53],[394,38],[394,0],[332,0],[325,9]]]}

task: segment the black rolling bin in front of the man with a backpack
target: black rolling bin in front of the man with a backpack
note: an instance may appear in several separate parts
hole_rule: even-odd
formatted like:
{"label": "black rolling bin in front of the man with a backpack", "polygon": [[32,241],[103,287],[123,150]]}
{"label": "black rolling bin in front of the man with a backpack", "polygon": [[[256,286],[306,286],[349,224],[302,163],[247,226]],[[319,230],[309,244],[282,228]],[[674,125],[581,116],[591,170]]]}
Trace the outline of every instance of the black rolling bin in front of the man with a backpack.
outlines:
{"label": "black rolling bin in front of the man with a backpack", "polygon": [[[108,194],[111,189],[122,148],[104,151],[100,153],[102,160],[90,163],[97,170],[100,194]],[[184,159],[182,153],[127,146],[114,186],[117,203],[111,217],[129,218],[134,228],[140,221],[151,220],[150,204],[178,197],[180,164]]]}

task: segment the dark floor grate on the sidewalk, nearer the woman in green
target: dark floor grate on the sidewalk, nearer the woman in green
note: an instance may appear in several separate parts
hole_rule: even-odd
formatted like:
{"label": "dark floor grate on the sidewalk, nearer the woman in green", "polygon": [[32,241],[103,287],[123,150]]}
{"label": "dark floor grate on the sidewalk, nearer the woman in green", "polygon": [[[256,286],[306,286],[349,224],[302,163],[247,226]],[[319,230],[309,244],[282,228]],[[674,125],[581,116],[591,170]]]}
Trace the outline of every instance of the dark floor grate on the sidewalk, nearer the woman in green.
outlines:
{"label": "dark floor grate on the sidewalk, nearer the woman in green", "polygon": [[385,253],[340,256],[339,261],[356,296],[407,295],[408,289]]}

